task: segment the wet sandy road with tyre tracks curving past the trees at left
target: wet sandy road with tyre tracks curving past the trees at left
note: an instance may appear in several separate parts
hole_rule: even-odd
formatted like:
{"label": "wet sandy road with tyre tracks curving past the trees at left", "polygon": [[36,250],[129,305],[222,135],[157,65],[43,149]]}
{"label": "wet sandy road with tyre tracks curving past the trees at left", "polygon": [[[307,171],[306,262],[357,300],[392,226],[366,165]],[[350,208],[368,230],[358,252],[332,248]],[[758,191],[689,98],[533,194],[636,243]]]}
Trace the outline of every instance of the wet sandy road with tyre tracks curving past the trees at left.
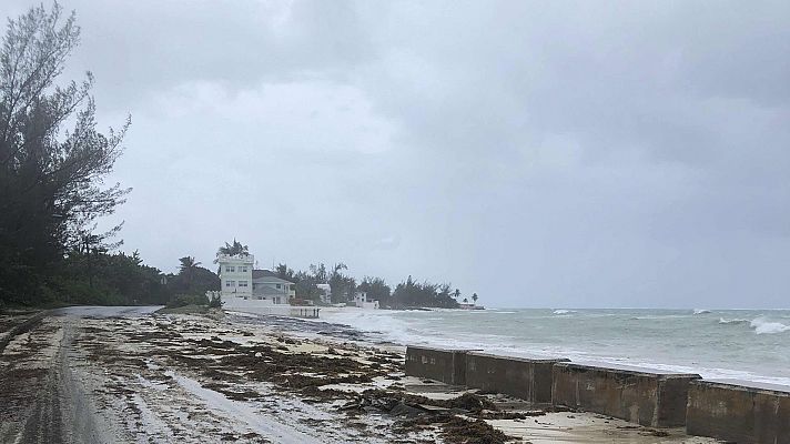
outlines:
{"label": "wet sandy road with tyre tracks curving past the trees at left", "polygon": [[91,394],[74,375],[74,335],[82,317],[139,317],[156,309],[60,309],[50,312],[29,332],[12,339],[7,347],[11,350],[4,351],[0,367],[0,442],[125,441],[113,432],[121,427],[111,424],[112,418],[98,414]]}

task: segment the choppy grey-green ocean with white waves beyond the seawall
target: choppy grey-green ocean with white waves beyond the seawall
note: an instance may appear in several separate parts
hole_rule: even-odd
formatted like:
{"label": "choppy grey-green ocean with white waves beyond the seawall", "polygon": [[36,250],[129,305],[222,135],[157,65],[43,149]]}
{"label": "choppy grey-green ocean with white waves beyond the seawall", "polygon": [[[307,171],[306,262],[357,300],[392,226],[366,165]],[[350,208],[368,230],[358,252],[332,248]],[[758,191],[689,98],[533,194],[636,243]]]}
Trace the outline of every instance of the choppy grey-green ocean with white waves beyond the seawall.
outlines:
{"label": "choppy grey-green ocean with white waves beyond the seawall", "polygon": [[567,357],[790,386],[790,311],[438,310],[322,312],[382,341]]}

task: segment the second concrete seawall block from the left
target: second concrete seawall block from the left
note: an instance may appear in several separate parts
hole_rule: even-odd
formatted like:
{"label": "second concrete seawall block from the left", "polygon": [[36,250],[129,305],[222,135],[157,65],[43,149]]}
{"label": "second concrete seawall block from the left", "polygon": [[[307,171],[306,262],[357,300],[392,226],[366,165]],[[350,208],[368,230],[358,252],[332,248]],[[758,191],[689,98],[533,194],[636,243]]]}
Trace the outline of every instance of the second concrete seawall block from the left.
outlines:
{"label": "second concrete seawall block from the left", "polygon": [[551,367],[568,360],[530,360],[466,354],[466,385],[535,403],[551,402]]}

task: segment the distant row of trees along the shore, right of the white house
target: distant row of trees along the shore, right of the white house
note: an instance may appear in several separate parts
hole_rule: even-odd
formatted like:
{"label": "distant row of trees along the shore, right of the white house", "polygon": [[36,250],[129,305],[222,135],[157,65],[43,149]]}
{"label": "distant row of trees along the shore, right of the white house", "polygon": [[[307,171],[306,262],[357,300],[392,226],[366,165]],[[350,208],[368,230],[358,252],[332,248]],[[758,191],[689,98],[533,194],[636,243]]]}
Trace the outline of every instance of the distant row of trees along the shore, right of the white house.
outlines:
{"label": "distant row of trees along the shore, right of the white house", "polygon": [[[385,309],[406,307],[442,307],[457,309],[462,293],[453,290],[450,283],[417,282],[412,276],[398,283],[393,290],[384,279],[365,276],[361,281],[347,274],[346,264],[338,262],[332,268],[323,263],[311,264],[306,271],[294,271],[287,264],[280,264],[275,273],[281,279],[293,282],[296,287],[296,297],[310,301],[320,301],[323,294],[320,284],[328,284],[333,303],[343,303],[353,300],[357,292],[367,293],[368,300],[378,301]],[[473,295],[477,300],[477,294]],[[464,300],[465,302],[467,299]]]}

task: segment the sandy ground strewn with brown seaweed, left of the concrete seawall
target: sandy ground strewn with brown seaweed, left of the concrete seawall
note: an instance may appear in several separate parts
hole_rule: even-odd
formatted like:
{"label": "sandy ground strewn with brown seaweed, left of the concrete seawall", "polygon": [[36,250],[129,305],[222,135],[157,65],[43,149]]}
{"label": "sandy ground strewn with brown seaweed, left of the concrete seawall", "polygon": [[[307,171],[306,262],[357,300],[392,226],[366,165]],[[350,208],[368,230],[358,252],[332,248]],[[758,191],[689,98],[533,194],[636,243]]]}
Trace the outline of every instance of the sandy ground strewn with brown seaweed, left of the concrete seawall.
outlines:
{"label": "sandy ground strewn with brown seaweed, left of the concrete seawall", "polygon": [[715,442],[407,377],[404,346],[325,322],[82,307],[7,340],[2,442]]}

